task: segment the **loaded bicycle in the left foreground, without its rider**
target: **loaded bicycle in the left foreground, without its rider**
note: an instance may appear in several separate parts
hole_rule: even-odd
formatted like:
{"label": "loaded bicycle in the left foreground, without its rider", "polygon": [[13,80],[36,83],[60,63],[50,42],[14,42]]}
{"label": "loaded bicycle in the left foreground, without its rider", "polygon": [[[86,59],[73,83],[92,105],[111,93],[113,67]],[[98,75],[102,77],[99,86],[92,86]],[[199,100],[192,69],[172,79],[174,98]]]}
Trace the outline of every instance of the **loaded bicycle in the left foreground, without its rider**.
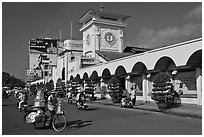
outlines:
{"label": "loaded bicycle in the left foreground, without its rider", "polygon": [[67,124],[62,110],[62,100],[58,101],[57,110],[53,117],[48,116],[47,108],[41,108],[25,114],[24,120],[26,123],[33,123],[35,129],[52,127],[57,132],[63,131]]}

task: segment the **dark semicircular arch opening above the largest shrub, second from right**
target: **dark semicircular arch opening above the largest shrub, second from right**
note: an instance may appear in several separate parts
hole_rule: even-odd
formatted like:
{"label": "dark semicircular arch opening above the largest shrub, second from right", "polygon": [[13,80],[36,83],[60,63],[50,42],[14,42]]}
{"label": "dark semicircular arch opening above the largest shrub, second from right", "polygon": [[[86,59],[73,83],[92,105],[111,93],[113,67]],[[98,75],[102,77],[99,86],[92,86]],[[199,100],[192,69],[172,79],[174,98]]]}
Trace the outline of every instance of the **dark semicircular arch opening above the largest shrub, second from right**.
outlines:
{"label": "dark semicircular arch opening above the largest shrub, second from right", "polygon": [[155,64],[154,70],[173,70],[176,67],[174,61],[170,57],[161,57]]}

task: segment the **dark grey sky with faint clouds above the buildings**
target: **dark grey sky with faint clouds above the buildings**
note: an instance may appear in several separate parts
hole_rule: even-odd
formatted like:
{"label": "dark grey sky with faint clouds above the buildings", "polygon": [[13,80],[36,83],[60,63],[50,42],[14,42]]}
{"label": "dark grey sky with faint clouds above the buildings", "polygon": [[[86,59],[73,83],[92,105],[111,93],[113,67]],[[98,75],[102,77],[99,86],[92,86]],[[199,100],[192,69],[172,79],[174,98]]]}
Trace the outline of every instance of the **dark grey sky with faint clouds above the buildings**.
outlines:
{"label": "dark grey sky with faint clouds above the buildings", "polygon": [[[125,45],[158,48],[202,37],[201,2],[103,2],[103,10],[130,15]],[[78,20],[101,2],[2,2],[2,71],[26,78],[30,38],[82,40]]]}

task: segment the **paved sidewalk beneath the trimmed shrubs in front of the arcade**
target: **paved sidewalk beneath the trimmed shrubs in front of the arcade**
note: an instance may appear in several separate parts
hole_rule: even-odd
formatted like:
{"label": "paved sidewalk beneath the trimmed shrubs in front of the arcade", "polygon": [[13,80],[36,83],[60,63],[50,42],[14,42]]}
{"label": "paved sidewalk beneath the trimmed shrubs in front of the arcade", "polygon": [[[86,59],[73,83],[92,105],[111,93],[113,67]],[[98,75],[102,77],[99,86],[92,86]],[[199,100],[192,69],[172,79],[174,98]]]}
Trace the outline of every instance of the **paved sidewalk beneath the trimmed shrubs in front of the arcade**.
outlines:
{"label": "paved sidewalk beneath the trimmed shrubs in front of the arcade", "polygon": [[[113,106],[119,107],[119,103],[113,103],[112,100],[110,99],[101,99],[101,100],[96,100],[92,102],[100,103],[103,105],[113,105]],[[134,109],[157,111],[161,113],[202,119],[202,108],[199,108],[197,105],[194,105],[194,104],[181,104],[181,106],[177,108],[171,108],[171,109],[161,111],[159,110],[155,102],[143,103],[141,100],[137,100],[136,107],[134,107]]]}

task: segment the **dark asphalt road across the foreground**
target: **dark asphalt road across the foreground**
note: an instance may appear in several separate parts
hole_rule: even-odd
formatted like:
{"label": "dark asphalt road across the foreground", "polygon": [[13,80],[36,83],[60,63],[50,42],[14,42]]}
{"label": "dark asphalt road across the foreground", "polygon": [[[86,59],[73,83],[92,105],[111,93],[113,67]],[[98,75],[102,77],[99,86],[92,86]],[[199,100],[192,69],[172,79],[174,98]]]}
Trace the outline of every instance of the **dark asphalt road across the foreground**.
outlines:
{"label": "dark asphalt road across the foreground", "polygon": [[[29,102],[29,106],[33,104]],[[88,103],[87,111],[64,102],[67,127],[63,132],[25,124],[16,99],[2,100],[2,135],[201,135],[202,120],[159,112]],[[81,123],[81,126],[78,126]]]}

